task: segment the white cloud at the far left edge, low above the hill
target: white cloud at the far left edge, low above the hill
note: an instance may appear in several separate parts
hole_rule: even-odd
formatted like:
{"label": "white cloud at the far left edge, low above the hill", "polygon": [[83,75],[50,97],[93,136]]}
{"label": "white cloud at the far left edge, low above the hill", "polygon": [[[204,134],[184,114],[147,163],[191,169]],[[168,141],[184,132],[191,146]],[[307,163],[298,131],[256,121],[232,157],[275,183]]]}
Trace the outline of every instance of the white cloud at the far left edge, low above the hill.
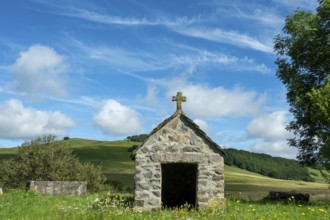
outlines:
{"label": "white cloud at the far left edge, low above the hill", "polygon": [[67,135],[67,129],[75,125],[74,121],[58,111],[39,111],[24,107],[16,99],[0,104],[1,138],[34,138],[53,134]]}

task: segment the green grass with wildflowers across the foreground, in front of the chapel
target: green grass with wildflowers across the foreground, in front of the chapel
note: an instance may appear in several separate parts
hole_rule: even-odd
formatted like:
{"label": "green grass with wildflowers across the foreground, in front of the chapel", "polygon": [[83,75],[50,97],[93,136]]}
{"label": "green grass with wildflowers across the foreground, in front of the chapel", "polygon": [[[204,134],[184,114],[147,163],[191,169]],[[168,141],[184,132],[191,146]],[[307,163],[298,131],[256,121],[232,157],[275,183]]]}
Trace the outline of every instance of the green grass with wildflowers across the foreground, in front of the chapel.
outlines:
{"label": "green grass with wildflowers across the foreground, in front of the chapel", "polygon": [[[225,209],[134,212],[131,206],[102,203],[106,194],[41,196],[12,191],[0,196],[0,219],[330,219],[329,205],[226,200]],[[106,202],[106,200],[103,200]]]}

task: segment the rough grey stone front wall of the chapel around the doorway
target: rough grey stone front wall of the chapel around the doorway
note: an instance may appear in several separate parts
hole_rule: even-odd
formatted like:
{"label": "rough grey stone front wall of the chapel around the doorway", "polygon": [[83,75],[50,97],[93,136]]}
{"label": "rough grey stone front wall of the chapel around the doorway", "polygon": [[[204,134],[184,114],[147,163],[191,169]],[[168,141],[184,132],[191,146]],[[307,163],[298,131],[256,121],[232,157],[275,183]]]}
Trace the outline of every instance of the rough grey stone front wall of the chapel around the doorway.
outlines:
{"label": "rough grey stone front wall of the chapel around the doorway", "polygon": [[197,207],[202,209],[208,203],[223,203],[223,157],[178,116],[149,137],[136,153],[136,209],[161,207],[162,163],[197,164]]}

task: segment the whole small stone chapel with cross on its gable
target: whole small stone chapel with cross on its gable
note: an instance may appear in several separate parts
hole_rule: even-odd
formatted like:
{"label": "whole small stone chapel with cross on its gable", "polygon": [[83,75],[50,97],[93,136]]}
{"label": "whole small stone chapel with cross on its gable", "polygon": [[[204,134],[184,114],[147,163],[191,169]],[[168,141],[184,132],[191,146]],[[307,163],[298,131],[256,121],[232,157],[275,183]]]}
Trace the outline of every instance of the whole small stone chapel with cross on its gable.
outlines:
{"label": "whole small stone chapel with cross on its gable", "polygon": [[135,210],[179,207],[203,209],[224,202],[225,152],[182,111],[165,119],[133,153]]}

